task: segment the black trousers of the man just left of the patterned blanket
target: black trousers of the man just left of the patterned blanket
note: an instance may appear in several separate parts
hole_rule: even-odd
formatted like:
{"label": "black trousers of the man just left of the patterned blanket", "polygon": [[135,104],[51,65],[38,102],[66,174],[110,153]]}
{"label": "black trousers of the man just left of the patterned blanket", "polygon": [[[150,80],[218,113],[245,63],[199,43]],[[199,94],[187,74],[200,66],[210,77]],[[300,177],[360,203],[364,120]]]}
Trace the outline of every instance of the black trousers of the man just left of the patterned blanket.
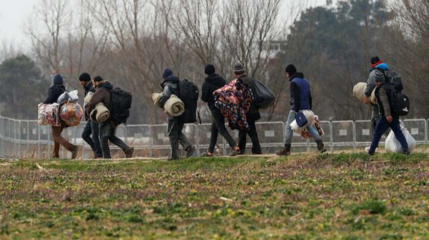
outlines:
{"label": "black trousers of the man just left of the patterned blanket", "polygon": [[211,124],[211,136],[208,152],[213,153],[214,146],[218,140],[218,133],[220,133],[226,139],[231,148],[234,148],[236,145],[234,138],[231,137],[228,130],[225,128],[225,117],[222,115],[221,110],[217,108],[213,109],[211,110],[211,114],[213,115],[213,123]]}

